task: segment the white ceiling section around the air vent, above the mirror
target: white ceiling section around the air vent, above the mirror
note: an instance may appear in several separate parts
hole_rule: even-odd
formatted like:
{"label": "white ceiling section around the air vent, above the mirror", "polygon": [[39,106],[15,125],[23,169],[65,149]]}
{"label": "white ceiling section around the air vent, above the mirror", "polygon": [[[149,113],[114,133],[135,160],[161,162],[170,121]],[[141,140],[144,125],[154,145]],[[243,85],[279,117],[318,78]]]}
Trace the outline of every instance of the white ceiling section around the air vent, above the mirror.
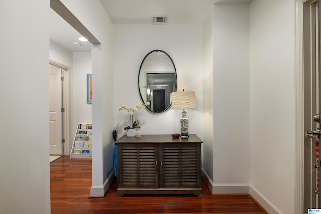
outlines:
{"label": "white ceiling section around the air vent, above the mirror", "polygon": [[249,4],[252,0],[100,0],[114,24],[152,24],[166,16],[168,24],[201,24],[213,3]]}

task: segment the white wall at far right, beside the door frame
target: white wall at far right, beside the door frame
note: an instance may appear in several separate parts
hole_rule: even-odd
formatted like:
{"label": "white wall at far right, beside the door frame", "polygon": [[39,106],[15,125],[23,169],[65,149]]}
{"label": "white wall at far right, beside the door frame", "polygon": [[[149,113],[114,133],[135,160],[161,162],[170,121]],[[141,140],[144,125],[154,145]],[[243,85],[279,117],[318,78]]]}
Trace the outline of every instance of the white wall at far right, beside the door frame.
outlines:
{"label": "white wall at far right, beside the door frame", "polygon": [[253,1],[250,38],[250,193],[294,213],[294,1]]}

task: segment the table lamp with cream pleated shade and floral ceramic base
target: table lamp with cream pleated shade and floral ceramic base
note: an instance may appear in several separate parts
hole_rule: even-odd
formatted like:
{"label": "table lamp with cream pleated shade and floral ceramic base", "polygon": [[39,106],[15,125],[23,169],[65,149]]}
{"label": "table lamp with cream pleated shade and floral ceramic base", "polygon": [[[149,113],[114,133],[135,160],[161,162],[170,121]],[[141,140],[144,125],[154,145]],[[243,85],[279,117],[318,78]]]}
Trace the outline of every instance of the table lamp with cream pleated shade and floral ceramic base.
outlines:
{"label": "table lamp with cream pleated shade and floral ceramic base", "polygon": [[196,108],[194,91],[176,91],[171,93],[170,101],[172,109],[183,109],[181,122],[181,136],[189,136],[189,119],[186,117],[185,109]]}

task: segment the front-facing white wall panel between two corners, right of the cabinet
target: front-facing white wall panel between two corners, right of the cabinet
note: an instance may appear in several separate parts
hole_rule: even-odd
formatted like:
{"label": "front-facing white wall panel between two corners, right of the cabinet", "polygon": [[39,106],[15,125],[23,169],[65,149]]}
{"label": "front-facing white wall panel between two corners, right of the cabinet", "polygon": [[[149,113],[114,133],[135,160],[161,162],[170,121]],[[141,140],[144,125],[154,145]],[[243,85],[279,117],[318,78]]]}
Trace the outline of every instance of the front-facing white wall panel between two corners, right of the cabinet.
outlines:
{"label": "front-facing white wall panel between two corners, right of the cabinet", "polygon": [[249,5],[213,5],[213,193],[248,193]]}

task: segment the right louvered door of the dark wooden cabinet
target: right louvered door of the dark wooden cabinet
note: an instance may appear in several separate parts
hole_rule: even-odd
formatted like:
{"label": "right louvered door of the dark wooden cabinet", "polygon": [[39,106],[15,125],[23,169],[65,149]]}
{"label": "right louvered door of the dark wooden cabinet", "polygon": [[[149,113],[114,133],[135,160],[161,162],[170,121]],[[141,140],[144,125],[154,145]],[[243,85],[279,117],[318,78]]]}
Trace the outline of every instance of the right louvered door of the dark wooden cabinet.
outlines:
{"label": "right louvered door of the dark wooden cabinet", "polygon": [[161,188],[201,188],[201,145],[160,144]]}

